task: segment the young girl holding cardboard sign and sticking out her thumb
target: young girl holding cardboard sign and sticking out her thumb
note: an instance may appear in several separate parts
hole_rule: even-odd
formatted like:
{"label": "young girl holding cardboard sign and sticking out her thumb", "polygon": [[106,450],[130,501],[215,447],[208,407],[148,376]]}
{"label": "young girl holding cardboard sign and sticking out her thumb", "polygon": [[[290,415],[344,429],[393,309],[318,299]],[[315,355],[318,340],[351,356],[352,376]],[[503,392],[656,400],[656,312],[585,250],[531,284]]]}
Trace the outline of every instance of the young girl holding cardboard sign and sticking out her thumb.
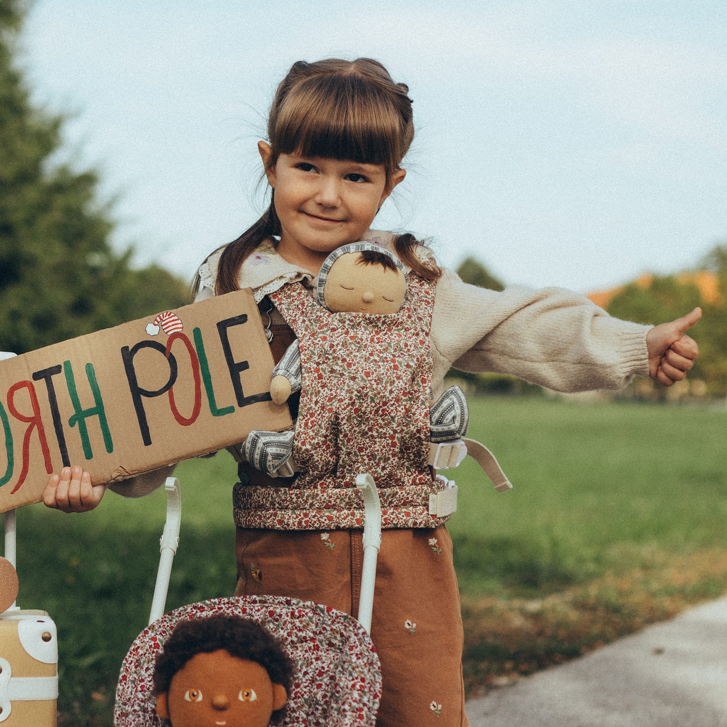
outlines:
{"label": "young girl holding cardboard sign and sticking out her thumb", "polygon": [[[421,379],[427,396],[413,406],[441,394],[451,366],[516,374],[561,391],[618,388],[635,374],[664,385],[683,379],[697,355],[684,332],[699,309],[650,329],[611,318],[562,289],[480,289],[441,270],[413,236],[372,232],[379,208],[406,174],[401,162],[413,136],[408,89],[381,64],[295,63],[273,100],[268,141],[258,145],[270,207],[204,262],[196,300],[252,287],[278,361],[305,323],[292,294],[310,288],[329,252],[366,240],[394,252],[409,272],[410,292],[396,315],[407,335],[421,338],[428,359]],[[308,406],[304,390],[301,413]],[[415,414],[428,422],[428,411]],[[241,462],[238,450],[233,454],[240,480],[236,594],[290,595],[356,614],[362,545],[350,483],[334,476],[296,488],[294,480],[271,479]],[[384,679],[377,724],[461,726],[463,637],[451,540],[447,518],[427,509],[442,484],[421,457],[411,462],[403,486],[378,483],[389,517],[371,629]],[[113,489],[144,494],[161,481],[163,473],[153,473]],[[73,467],[51,478],[45,502],[88,510],[102,495],[103,486],[92,488]]]}

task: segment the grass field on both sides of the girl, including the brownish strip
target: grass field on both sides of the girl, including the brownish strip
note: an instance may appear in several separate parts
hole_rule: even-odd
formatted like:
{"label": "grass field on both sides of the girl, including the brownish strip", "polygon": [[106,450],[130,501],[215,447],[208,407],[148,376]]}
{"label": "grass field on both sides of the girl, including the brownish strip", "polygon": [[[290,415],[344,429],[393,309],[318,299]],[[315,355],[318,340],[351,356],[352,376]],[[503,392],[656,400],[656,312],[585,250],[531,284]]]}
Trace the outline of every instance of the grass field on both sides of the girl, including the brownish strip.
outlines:
{"label": "grass field on both sides of the girl, including the brownish strip", "polygon": [[[470,436],[515,484],[473,462],[452,473],[451,521],[470,694],[557,663],[726,590],[727,409],[470,401]],[[182,536],[167,608],[234,587],[225,453],[185,462]],[[108,494],[93,513],[18,513],[24,608],[60,640],[60,725],[109,726],[119,665],[145,627],[164,493]],[[375,614],[374,614],[375,618]]]}

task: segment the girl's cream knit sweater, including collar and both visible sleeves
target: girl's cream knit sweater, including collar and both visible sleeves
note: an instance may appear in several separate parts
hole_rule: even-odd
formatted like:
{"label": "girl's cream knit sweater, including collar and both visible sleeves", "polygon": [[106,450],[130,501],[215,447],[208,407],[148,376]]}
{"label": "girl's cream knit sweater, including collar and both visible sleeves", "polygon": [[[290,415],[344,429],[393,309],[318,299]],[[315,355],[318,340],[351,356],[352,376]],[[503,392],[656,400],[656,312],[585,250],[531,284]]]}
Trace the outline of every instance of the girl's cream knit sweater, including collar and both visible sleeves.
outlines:
{"label": "girl's cream knit sweater, including collar and both visible sleeves", "polygon": [[[366,239],[388,246],[389,233],[371,231]],[[426,257],[429,251],[421,249]],[[196,300],[214,295],[220,252],[199,270]],[[269,242],[244,262],[240,286],[252,287],[258,302],[292,281],[310,284],[313,275],[286,262]],[[273,323],[282,322],[273,310]],[[268,324],[268,316],[263,324]],[[587,298],[561,288],[511,286],[495,292],[462,282],[444,270],[436,289],[430,341],[433,395],[454,366],[462,371],[514,374],[556,391],[618,389],[634,375],[648,377],[646,333],[650,326],[608,316]],[[173,467],[145,473],[111,486],[126,497],[148,494]]]}

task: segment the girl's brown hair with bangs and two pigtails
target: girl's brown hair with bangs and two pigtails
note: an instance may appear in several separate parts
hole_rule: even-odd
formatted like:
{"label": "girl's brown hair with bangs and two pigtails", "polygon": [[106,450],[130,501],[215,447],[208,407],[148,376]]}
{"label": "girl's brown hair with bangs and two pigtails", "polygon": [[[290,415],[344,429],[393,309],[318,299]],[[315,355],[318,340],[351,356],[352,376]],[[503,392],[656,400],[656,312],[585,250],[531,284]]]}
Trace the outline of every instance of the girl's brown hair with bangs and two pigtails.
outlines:
{"label": "girl's brown hair with bangs and two pigtails", "polygon": [[[386,68],[371,58],[294,63],[270,107],[270,164],[280,154],[292,153],[382,164],[389,182],[414,138],[408,93],[406,84],[394,83]],[[245,258],[265,238],[280,233],[273,190],[260,220],[225,246],[215,294],[237,290]],[[433,262],[419,260],[414,252],[417,244],[409,233],[395,236],[394,252],[419,276],[430,280],[441,276]],[[195,292],[198,287],[199,279]]]}

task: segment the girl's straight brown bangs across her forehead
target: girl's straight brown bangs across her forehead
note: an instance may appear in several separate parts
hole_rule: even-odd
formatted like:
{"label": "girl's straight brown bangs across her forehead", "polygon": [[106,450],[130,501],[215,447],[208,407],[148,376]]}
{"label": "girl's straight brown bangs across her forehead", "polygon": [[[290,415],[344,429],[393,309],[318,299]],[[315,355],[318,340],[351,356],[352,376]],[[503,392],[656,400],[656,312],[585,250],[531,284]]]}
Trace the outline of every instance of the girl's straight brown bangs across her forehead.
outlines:
{"label": "girl's straight brown bangs across her forehead", "polygon": [[388,98],[355,73],[315,76],[291,89],[272,141],[278,153],[398,168],[402,119]]}

